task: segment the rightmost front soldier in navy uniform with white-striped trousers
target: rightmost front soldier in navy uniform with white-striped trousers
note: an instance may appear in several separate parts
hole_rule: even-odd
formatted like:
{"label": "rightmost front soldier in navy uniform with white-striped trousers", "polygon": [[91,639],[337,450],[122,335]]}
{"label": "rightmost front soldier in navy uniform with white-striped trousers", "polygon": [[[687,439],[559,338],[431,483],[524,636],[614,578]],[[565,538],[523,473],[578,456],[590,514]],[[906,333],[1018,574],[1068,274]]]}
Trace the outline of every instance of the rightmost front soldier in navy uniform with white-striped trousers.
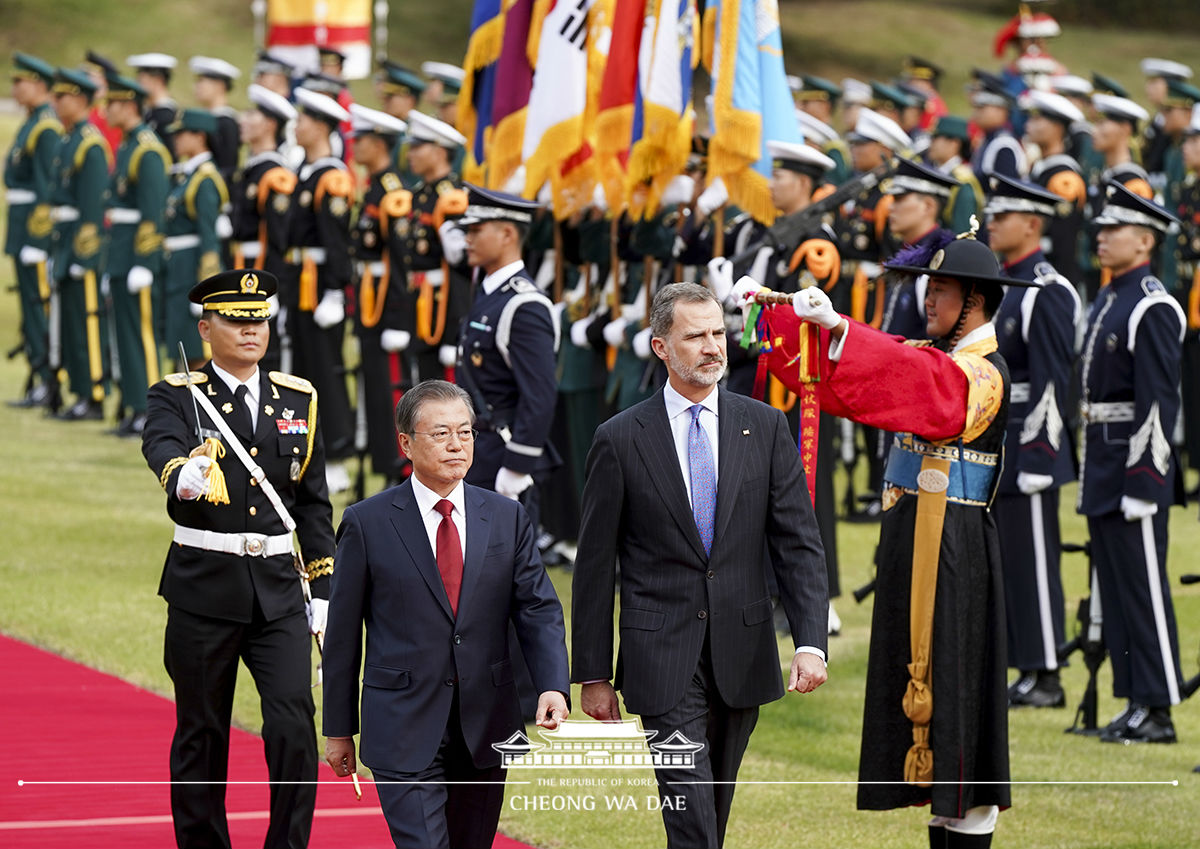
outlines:
{"label": "rightmost front soldier in navy uniform with white-striped trousers", "polygon": [[1078,508],[1087,517],[1103,600],[1112,694],[1129,700],[1100,740],[1175,742],[1180,662],[1166,513],[1180,474],[1170,434],[1180,411],[1186,320],[1150,272],[1150,260],[1178,222],[1112,185],[1093,223],[1112,282],[1092,303],[1084,333]]}

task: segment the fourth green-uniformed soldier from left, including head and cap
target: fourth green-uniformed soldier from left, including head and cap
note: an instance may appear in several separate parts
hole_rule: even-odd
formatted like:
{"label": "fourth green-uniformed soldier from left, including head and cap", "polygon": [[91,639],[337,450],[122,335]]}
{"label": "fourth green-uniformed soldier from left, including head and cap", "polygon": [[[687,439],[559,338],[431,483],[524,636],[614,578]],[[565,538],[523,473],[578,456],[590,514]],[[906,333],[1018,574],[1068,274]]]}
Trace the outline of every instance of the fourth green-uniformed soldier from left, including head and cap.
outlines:
{"label": "fourth green-uniformed soldier from left, including head and cap", "polygon": [[[184,109],[168,130],[179,156],[172,168],[173,183],[167,194],[163,231],[167,248],[167,285],[162,305],[162,339],[172,356],[179,342],[190,362],[204,359],[196,329],[194,307],[188,307],[187,293],[198,281],[221,271],[221,239],[229,227],[222,209],[229,203],[224,180],[212,162],[209,146],[216,132],[216,119],[203,109]],[[180,363],[180,367],[185,367]]]}

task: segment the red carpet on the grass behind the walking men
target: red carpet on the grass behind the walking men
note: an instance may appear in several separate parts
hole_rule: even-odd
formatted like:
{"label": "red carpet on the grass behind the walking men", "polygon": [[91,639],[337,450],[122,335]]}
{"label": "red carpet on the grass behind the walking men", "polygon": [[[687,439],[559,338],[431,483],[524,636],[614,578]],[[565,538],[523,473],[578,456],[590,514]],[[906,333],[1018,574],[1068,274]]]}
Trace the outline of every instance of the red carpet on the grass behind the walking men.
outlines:
{"label": "red carpet on the grass behind the walking men", "polygon": [[[175,843],[167,755],[168,699],[0,636],[0,847],[163,849]],[[386,849],[388,825],[370,781],[362,801],[324,764],[313,849]],[[262,740],[233,730],[226,809],[234,847],[260,847],[268,785]],[[22,784],[22,782],[25,782]],[[70,783],[40,783],[70,782]],[[145,782],[145,783],[139,783]],[[493,849],[522,849],[497,836]]]}

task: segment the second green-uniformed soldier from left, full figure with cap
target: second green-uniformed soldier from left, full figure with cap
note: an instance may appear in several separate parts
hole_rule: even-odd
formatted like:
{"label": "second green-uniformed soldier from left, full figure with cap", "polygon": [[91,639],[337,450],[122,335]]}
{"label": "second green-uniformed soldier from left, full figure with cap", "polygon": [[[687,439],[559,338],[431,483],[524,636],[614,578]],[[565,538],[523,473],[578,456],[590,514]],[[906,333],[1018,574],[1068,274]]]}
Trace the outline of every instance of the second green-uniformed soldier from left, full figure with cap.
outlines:
{"label": "second green-uniformed soldier from left, full figure with cap", "polygon": [[58,185],[50,210],[50,261],[58,289],[50,303],[50,368],[66,366],[77,397],[59,414],[60,419],[102,419],[106,389],[100,261],[113,153],[100,131],[88,122],[96,92],[91,78],[82,71],[59,68],[53,91],[54,110],[65,134],[55,162]]}

